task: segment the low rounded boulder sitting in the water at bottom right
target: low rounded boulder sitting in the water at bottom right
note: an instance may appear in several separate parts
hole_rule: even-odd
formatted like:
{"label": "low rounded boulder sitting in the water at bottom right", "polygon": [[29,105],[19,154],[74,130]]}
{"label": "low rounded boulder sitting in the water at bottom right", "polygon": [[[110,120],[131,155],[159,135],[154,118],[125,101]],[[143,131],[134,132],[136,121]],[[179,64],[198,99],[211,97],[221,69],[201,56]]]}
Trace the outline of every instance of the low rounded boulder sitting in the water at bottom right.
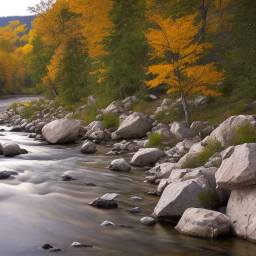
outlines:
{"label": "low rounded boulder sitting in the water at bottom right", "polygon": [[227,234],[229,226],[230,220],[223,213],[207,209],[188,208],[184,211],[175,229],[189,235],[217,237],[219,234]]}

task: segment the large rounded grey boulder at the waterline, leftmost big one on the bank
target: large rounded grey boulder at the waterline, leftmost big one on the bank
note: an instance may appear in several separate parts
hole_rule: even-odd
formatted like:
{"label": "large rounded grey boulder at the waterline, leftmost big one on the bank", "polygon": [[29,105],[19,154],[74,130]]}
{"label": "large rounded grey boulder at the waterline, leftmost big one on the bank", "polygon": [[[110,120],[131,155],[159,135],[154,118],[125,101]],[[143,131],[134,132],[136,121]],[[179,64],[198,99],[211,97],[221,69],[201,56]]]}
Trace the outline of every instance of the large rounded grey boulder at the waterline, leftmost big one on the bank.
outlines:
{"label": "large rounded grey boulder at the waterline, leftmost big one on the bank", "polygon": [[57,119],[43,126],[42,135],[51,144],[63,144],[77,139],[80,127],[78,120]]}

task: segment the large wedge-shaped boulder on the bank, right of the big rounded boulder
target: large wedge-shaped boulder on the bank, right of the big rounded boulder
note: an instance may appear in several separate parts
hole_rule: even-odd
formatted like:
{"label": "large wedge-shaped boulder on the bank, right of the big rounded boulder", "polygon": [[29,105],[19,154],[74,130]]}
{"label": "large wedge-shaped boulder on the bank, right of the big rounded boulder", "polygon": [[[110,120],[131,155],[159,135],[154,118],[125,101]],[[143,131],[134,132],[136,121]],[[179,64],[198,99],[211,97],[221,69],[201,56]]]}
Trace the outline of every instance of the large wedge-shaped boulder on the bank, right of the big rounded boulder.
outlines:
{"label": "large wedge-shaped boulder on the bank, right of the big rounded boulder", "polygon": [[146,115],[134,112],[124,119],[115,133],[123,138],[136,138],[146,135],[151,128],[152,121]]}

